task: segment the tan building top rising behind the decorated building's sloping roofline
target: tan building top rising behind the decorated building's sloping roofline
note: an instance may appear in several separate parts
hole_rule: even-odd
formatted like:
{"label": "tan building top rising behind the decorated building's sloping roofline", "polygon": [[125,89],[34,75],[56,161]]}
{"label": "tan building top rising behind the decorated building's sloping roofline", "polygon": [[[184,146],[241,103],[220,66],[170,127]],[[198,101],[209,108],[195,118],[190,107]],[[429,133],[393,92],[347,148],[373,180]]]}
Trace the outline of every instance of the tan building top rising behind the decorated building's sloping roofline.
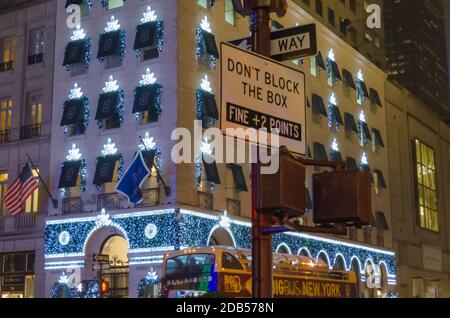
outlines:
{"label": "tan building top rising behind the decorated building's sloping roofline", "polygon": [[[384,28],[369,28],[367,24],[367,21],[370,20],[369,15],[374,12],[373,9],[367,10],[369,5],[376,5],[380,8],[380,18],[383,19],[382,0],[295,0],[293,2],[327,26],[373,64],[385,69]],[[302,24],[301,21],[300,24]]]}

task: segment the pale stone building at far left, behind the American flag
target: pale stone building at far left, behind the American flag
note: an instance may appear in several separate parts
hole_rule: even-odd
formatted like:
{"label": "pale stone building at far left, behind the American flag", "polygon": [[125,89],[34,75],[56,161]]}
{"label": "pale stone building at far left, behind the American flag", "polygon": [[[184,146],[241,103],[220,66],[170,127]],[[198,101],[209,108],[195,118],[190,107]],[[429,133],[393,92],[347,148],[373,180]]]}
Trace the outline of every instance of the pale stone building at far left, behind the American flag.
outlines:
{"label": "pale stone building at far left, behind the American flag", "polygon": [[44,297],[44,228],[48,196],[40,185],[13,218],[3,206],[8,185],[29,156],[50,173],[56,1],[0,7],[0,297]]}

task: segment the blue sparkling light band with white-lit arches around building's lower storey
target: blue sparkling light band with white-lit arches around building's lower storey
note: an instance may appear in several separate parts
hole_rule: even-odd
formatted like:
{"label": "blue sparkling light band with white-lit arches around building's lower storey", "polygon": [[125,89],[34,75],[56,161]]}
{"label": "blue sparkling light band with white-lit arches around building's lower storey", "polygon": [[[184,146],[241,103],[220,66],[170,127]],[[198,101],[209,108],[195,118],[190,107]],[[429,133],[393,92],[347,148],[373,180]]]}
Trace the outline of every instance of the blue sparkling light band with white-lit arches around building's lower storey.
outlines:
{"label": "blue sparkling light band with white-lit arches around building's lower storey", "polygon": [[[145,235],[149,224],[156,226],[156,235],[149,239]],[[163,209],[147,212],[134,212],[95,217],[81,217],[62,220],[47,220],[45,227],[45,259],[47,261],[64,260],[67,257],[86,257],[86,246],[91,236],[107,227],[118,229],[128,241],[130,261],[137,264],[154,264],[156,259],[145,253],[179,250],[209,245],[209,239],[216,230],[225,230],[232,237],[235,247],[251,248],[251,222],[231,219],[223,215],[201,213],[185,209]],[[71,240],[66,245],[59,242],[59,235],[68,232]],[[361,273],[365,265],[384,265],[388,275],[388,284],[396,284],[395,253],[375,247],[359,245],[350,241],[328,237],[313,236],[304,233],[279,233],[273,235],[273,250],[280,245],[298,255],[306,251],[308,256],[317,258],[324,254],[329,266],[335,265],[338,256],[342,256],[346,270],[351,270],[356,262]],[[153,257],[153,256],[152,256]],[[160,260],[159,260],[160,262]],[[67,265],[70,267],[70,265]]]}

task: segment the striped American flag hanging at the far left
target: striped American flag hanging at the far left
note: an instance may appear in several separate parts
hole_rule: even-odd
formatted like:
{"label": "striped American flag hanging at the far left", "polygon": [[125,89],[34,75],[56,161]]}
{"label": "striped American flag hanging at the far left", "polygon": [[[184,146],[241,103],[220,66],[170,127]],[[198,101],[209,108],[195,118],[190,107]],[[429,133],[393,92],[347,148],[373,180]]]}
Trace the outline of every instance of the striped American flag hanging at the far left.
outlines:
{"label": "striped American flag hanging at the far left", "polygon": [[19,177],[9,187],[3,202],[11,215],[16,216],[22,212],[22,208],[27,199],[39,187],[38,181],[31,172],[30,165],[27,163],[20,173]]}

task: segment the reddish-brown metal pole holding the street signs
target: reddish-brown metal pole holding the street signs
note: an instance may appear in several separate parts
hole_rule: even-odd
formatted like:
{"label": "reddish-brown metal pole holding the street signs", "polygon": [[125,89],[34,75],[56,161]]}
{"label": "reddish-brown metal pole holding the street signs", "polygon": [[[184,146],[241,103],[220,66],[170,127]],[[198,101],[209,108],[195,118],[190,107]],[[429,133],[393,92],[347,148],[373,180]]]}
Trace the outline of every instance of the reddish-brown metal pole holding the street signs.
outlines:
{"label": "reddish-brown metal pole holding the street signs", "polygon": [[[270,57],[270,7],[254,8],[250,16],[253,51]],[[272,298],[272,234],[263,234],[267,217],[257,213],[259,200],[259,149],[257,163],[252,164],[252,290],[254,298]]]}

